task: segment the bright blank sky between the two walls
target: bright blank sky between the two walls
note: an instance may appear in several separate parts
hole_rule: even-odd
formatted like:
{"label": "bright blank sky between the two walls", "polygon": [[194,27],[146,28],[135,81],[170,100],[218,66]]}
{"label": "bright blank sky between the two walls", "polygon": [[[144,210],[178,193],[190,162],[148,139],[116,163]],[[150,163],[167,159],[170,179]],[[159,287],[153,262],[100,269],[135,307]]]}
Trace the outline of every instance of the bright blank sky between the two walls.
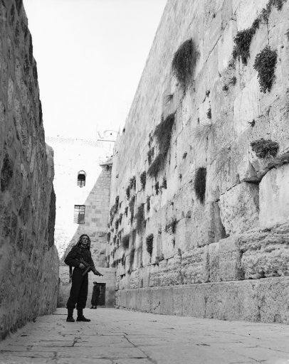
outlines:
{"label": "bright blank sky between the two walls", "polygon": [[48,137],[125,123],[166,0],[24,0]]}

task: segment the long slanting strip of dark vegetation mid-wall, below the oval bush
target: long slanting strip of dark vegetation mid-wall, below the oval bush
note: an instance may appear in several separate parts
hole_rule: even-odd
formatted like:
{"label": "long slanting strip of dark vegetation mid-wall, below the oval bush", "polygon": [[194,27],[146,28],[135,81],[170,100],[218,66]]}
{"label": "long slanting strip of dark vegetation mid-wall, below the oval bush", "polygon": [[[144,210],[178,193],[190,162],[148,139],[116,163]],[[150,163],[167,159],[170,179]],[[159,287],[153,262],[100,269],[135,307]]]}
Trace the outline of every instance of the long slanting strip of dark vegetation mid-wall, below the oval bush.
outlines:
{"label": "long slanting strip of dark vegetation mid-wall, below the oval bush", "polygon": [[166,119],[157,125],[154,136],[157,138],[159,144],[159,154],[149,166],[147,173],[149,176],[156,178],[159,171],[164,168],[169,146],[172,137],[172,127],[174,126],[174,114],[170,114]]}

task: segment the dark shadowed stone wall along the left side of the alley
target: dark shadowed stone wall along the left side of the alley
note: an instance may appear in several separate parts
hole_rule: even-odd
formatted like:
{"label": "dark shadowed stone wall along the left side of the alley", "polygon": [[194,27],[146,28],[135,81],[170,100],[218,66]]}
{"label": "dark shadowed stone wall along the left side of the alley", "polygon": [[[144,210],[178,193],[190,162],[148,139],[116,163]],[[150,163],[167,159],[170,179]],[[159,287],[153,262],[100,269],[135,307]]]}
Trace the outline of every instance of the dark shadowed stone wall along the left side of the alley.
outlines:
{"label": "dark shadowed stone wall along the left side of the alley", "polygon": [[22,1],[0,1],[0,339],[56,309],[53,150]]}

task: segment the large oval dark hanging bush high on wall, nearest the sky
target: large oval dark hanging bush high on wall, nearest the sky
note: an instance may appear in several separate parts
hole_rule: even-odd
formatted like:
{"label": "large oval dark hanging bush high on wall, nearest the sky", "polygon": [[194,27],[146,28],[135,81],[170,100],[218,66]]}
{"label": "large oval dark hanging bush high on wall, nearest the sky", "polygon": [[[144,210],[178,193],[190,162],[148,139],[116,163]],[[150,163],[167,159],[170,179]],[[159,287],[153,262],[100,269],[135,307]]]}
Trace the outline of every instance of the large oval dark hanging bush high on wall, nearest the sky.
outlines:
{"label": "large oval dark hanging bush high on wall, nearest the sky", "polygon": [[177,77],[181,87],[186,91],[191,81],[194,65],[196,61],[196,51],[192,39],[188,39],[179,47],[172,60],[172,72]]}

